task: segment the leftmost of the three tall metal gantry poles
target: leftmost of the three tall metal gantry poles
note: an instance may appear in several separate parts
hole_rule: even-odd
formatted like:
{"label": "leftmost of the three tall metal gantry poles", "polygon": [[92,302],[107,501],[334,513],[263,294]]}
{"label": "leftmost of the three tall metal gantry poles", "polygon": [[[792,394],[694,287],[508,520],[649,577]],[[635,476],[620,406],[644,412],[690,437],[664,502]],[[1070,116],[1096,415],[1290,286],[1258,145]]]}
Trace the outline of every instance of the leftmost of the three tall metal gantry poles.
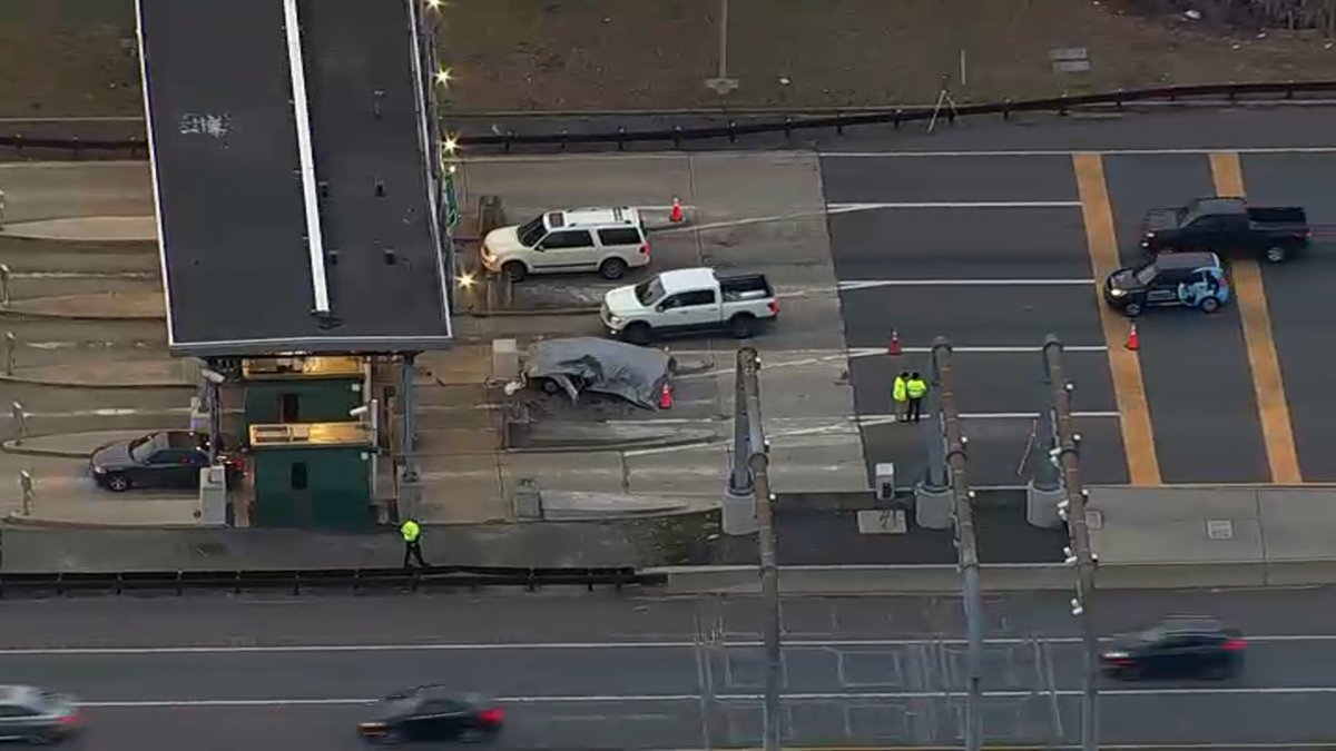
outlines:
{"label": "leftmost of the three tall metal gantry poles", "polygon": [[764,751],[780,751],[779,691],[784,680],[780,655],[779,564],[775,557],[775,514],[770,492],[770,456],[760,413],[760,357],[755,349],[739,353],[743,363],[743,394],[747,412],[748,449],[747,468],[756,494],[756,547],[760,552],[760,589],[766,603],[766,712]]}

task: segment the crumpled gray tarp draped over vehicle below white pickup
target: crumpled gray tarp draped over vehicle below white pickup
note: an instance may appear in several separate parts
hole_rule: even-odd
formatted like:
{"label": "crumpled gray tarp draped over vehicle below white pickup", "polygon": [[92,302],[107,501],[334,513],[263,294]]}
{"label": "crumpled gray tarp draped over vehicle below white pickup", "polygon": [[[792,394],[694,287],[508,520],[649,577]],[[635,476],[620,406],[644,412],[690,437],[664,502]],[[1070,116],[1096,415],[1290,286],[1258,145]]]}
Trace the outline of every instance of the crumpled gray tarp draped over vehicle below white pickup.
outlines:
{"label": "crumpled gray tarp draped over vehicle below white pickup", "polygon": [[661,350],[613,339],[573,337],[544,339],[529,347],[526,378],[550,378],[578,398],[580,390],[621,397],[656,409],[668,381],[669,358]]}

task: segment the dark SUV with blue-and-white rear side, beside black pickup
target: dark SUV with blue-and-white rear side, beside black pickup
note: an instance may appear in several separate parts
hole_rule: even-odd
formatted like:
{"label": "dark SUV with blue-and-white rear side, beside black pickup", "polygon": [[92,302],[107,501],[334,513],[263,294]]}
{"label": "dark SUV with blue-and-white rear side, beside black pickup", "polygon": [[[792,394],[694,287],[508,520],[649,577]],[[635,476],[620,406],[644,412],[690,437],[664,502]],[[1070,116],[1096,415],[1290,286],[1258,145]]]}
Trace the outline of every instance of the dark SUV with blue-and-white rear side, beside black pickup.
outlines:
{"label": "dark SUV with blue-and-white rear side, beside black pickup", "polygon": [[1214,253],[1161,253],[1141,266],[1109,274],[1104,299],[1129,318],[1149,307],[1214,313],[1229,302],[1229,277]]}

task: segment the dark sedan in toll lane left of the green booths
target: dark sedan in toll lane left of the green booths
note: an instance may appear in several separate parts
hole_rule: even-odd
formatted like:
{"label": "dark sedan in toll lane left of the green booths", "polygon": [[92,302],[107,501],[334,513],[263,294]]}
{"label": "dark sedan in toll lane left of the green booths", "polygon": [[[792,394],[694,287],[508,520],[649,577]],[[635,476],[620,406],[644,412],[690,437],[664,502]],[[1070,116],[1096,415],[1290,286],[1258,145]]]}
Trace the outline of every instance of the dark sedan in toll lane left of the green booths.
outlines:
{"label": "dark sedan in toll lane left of the green booths", "polygon": [[[222,458],[230,476],[242,470],[240,457]],[[208,440],[188,430],[163,430],[106,444],[88,460],[94,481],[115,493],[131,488],[198,489],[199,470],[206,466]]]}

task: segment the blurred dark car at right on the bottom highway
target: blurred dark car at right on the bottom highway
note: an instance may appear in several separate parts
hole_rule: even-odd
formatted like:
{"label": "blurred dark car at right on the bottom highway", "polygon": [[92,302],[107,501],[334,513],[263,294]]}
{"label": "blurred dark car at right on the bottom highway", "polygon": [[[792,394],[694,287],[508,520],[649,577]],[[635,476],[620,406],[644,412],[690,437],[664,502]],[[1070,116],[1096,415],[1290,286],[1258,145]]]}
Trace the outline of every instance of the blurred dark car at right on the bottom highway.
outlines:
{"label": "blurred dark car at right on the bottom highway", "polygon": [[1176,617],[1116,639],[1100,656],[1105,673],[1120,680],[1238,675],[1246,643],[1213,619]]}

